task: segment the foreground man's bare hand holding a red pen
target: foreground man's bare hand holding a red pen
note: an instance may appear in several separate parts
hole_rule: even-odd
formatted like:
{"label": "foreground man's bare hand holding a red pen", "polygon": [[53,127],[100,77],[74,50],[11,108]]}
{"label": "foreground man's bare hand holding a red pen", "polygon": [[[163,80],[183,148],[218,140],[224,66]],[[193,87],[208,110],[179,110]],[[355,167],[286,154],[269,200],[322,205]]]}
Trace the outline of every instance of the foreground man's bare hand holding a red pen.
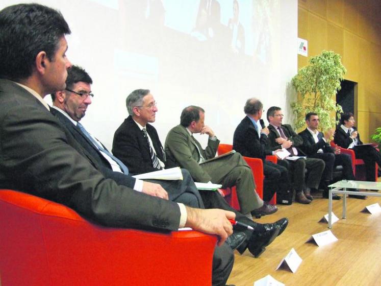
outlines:
{"label": "foreground man's bare hand holding a red pen", "polygon": [[222,209],[198,209],[186,207],[186,227],[219,236],[218,246],[233,233],[233,226],[228,219],[235,219],[236,214]]}

